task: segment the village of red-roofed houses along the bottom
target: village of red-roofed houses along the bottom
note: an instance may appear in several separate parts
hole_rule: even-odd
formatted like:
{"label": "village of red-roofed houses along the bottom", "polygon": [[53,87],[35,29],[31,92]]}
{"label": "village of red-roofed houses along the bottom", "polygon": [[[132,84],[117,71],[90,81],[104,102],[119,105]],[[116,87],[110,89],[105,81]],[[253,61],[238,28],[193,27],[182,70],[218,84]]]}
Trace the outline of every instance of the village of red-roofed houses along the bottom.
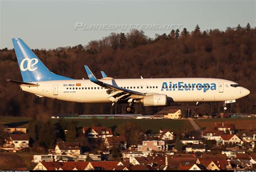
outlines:
{"label": "village of red-roofed houses along the bottom", "polygon": [[[256,168],[255,130],[236,129],[234,123],[228,122],[215,122],[213,128],[194,129],[186,134],[164,128],[158,133],[142,132],[136,127],[126,124],[124,126],[126,133],[116,135],[112,131],[113,128],[100,126],[96,121],[91,127],[80,128],[82,135],[80,138],[84,140],[72,139],[70,136],[72,128],[65,129],[65,139],[58,139],[52,149],[33,155],[31,170],[250,170]],[[127,128],[131,133],[127,134]],[[1,152],[32,150],[28,128],[5,127],[5,131],[8,132],[8,136],[0,148]],[[90,149],[87,149],[88,147]]]}

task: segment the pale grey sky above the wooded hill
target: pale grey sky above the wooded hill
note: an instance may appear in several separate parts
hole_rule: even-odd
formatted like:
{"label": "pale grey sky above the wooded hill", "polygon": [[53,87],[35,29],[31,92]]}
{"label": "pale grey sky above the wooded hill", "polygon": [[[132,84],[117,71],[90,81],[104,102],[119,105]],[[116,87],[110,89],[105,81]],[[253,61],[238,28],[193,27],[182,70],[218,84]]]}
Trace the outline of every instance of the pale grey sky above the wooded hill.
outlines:
{"label": "pale grey sky above the wooded hill", "polygon": [[256,0],[0,0],[0,49],[22,38],[32,49],[86,45],[112,32],[139,29],[154,38],[172,29],[255,27]]}

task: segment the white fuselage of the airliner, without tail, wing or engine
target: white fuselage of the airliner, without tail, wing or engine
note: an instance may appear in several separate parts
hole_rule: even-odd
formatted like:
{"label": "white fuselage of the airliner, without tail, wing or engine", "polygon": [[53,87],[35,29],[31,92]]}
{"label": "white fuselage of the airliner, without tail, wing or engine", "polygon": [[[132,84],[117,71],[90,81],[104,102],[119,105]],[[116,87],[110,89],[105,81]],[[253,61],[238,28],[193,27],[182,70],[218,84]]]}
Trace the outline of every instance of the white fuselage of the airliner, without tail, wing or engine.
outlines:
{"label": "white fuselage of the airliner, without tail, wing or engine", "polygon": [[[215,78],[99,79],[137,92],[166,94],[173,102],[227,101],[248,95],[250,91],[237,82]],[[171,84],[170,84],[171,82]],[[21,86],[23,91],[57,100],[109,103],[107,89],[90,80],[55,80],[33,82],[39,86]],[[175,85],[176,84],[176,85]],[[185,85],[186,84],[186,85]],[[198,87],[197,84],[201,84]],[[209,84],[209,86],[207,85]],[[215,85],[215,86],[214,86]],[[164,88],[163,88],[164,86]],[[167,86],[167,88],[165,87]],[[180,87],[179,87],[180,86]],[[202,88],[204,86],[204,88]]]}

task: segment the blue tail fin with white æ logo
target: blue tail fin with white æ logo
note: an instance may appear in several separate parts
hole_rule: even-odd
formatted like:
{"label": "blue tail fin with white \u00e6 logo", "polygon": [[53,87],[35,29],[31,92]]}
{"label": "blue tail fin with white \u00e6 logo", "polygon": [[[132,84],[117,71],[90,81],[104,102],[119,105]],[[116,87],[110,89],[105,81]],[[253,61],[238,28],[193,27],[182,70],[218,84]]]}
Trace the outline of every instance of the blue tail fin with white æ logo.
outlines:
{"label": "blue tail fin with white \u00e6 logo", "polygon": [[13,38],[12,43],[24,82],[71,79],[49,71],[21,38]]}

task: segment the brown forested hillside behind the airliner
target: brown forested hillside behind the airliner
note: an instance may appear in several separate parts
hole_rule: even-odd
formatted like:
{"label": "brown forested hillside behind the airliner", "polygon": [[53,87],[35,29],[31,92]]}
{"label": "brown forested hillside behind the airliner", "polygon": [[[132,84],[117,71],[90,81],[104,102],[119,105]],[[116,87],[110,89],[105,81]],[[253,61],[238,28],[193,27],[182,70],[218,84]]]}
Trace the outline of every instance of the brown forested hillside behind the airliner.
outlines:
{"label": "brown forested hillside behind the airliner", "polygon": [[[86,64],[98,78],[101,77],[100,70],[103,70],[113,78],[140,78],[142,75],[144,78],[210,77],[236,81],[248,88],[251,94],[238,100],[228,112],[256,113],[256,29],[249,24],[246,27],[228,27],[225,31],[200,31],[196,26],[190,33],[186,29],[173,30],[156,35],[156,38],[148,38],[143,31],[132,30],[129,33],[112,33],[88,45],[33,51],[52,72],[75,79],[87,79]],[[0,115],[125,112],[125,105],[76,104],[38,98],[23,92],[17,85],[5,81],[22,80],[14,50],[0,50],[0,61]],[[201,105],[201,111],[205,113],[223,111],[222,102]],[[160,109],[136,105],[135,113],[153,114]]]}

